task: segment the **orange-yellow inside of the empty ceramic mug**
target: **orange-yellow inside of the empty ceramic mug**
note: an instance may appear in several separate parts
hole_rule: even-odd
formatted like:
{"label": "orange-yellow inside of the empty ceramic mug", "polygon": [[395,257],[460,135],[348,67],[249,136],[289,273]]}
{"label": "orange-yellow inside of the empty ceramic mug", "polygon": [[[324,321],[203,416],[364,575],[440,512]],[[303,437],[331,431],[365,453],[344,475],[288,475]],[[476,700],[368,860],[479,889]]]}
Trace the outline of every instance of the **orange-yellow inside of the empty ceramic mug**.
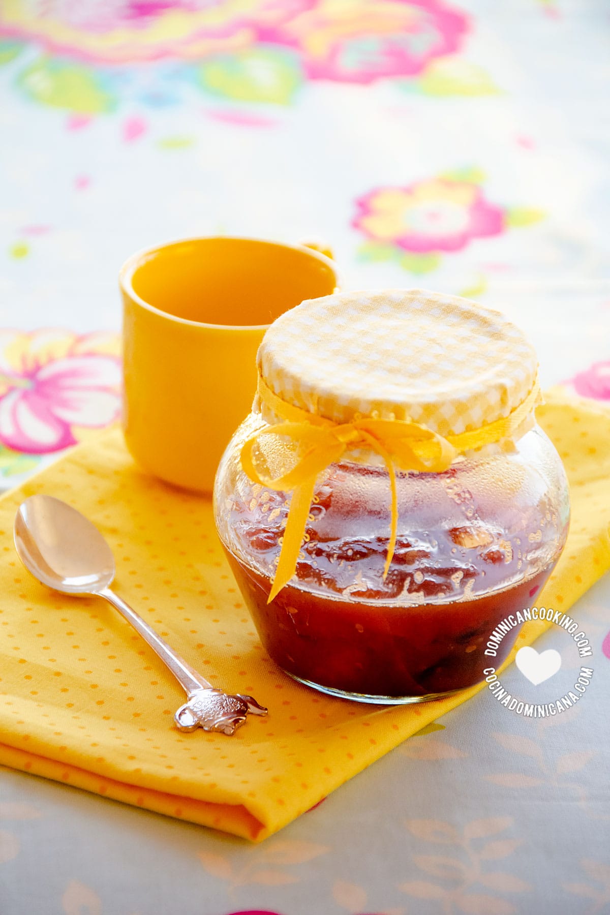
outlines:
{"label": "orange-yellow inside of the empty ceramic mug", "polygon": [[337,275],[328,258],[307,248],[219,237],[136,255],[122,281],[145,305],[176,318],[261,327],[306,298],[330,295]]}

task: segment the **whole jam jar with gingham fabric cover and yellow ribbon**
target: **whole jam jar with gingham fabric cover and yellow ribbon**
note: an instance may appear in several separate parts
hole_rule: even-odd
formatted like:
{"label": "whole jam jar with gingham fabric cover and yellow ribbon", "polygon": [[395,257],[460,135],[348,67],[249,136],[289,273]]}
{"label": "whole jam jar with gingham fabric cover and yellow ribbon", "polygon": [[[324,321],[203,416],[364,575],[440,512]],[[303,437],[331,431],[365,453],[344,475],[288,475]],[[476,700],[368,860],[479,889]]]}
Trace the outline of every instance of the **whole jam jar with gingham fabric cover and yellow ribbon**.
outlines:
{"label": "whole jam jar with gingham fabric cover and yellow ribbon", "polygon": [[278,318],[222,458],[219,536],[265,650],[361,702],[424,702],[498,668],[565,543],[536,355],[499,312],[421,290]]}

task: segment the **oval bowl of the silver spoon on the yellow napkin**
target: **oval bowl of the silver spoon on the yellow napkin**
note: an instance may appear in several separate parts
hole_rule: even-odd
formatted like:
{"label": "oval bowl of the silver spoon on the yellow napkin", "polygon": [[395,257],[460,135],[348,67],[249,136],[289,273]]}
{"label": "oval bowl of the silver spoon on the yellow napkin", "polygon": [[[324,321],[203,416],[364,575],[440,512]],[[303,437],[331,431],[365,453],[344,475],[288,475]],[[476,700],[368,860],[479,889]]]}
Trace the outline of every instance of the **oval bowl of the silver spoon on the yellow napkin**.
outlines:
{"label": "oval bowl of the silver spoon on the yellow napkin", "polygon": [[114,557],[102,534],[53,496],[39,494],[21,503],[15,546],[28,572],[63,594],[99,594],[114,577]]}

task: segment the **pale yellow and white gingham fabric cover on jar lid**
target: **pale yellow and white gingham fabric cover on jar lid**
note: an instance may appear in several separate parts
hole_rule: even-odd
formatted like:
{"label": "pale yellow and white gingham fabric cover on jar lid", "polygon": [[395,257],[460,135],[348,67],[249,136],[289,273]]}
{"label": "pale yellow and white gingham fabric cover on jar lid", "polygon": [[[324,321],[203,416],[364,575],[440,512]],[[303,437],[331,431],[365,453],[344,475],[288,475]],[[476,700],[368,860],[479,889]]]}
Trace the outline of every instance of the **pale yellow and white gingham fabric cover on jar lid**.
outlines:
{"label": "pale yellow and white gingham fabric cover on jar lid", "polygon": [[500,312],[422,289],[308,299],[267,330],[262,379],[337,423],[412,419],[442,436],[508,416],[530,393],[536,353]]}

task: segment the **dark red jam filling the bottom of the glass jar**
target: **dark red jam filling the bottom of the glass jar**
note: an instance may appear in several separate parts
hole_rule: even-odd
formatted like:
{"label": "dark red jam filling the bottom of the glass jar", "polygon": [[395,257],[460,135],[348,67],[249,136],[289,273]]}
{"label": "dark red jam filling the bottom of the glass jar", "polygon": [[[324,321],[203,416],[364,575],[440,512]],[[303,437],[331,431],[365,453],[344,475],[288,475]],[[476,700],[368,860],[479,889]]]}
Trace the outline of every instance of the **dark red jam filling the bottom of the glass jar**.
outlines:
{"label": "dark red jam filling the bottom of the glass jar", "polygon": [[[451,604],[346,601],[293,585],[267,604],[269,579],[229,560],[265,650],[286,673],[328,690],[390,699],[450,693],[482,680],[488,637],[510,613],[530,607],[549,575]],[[510,630],[500,642],[494,667],[518,633]]]}

